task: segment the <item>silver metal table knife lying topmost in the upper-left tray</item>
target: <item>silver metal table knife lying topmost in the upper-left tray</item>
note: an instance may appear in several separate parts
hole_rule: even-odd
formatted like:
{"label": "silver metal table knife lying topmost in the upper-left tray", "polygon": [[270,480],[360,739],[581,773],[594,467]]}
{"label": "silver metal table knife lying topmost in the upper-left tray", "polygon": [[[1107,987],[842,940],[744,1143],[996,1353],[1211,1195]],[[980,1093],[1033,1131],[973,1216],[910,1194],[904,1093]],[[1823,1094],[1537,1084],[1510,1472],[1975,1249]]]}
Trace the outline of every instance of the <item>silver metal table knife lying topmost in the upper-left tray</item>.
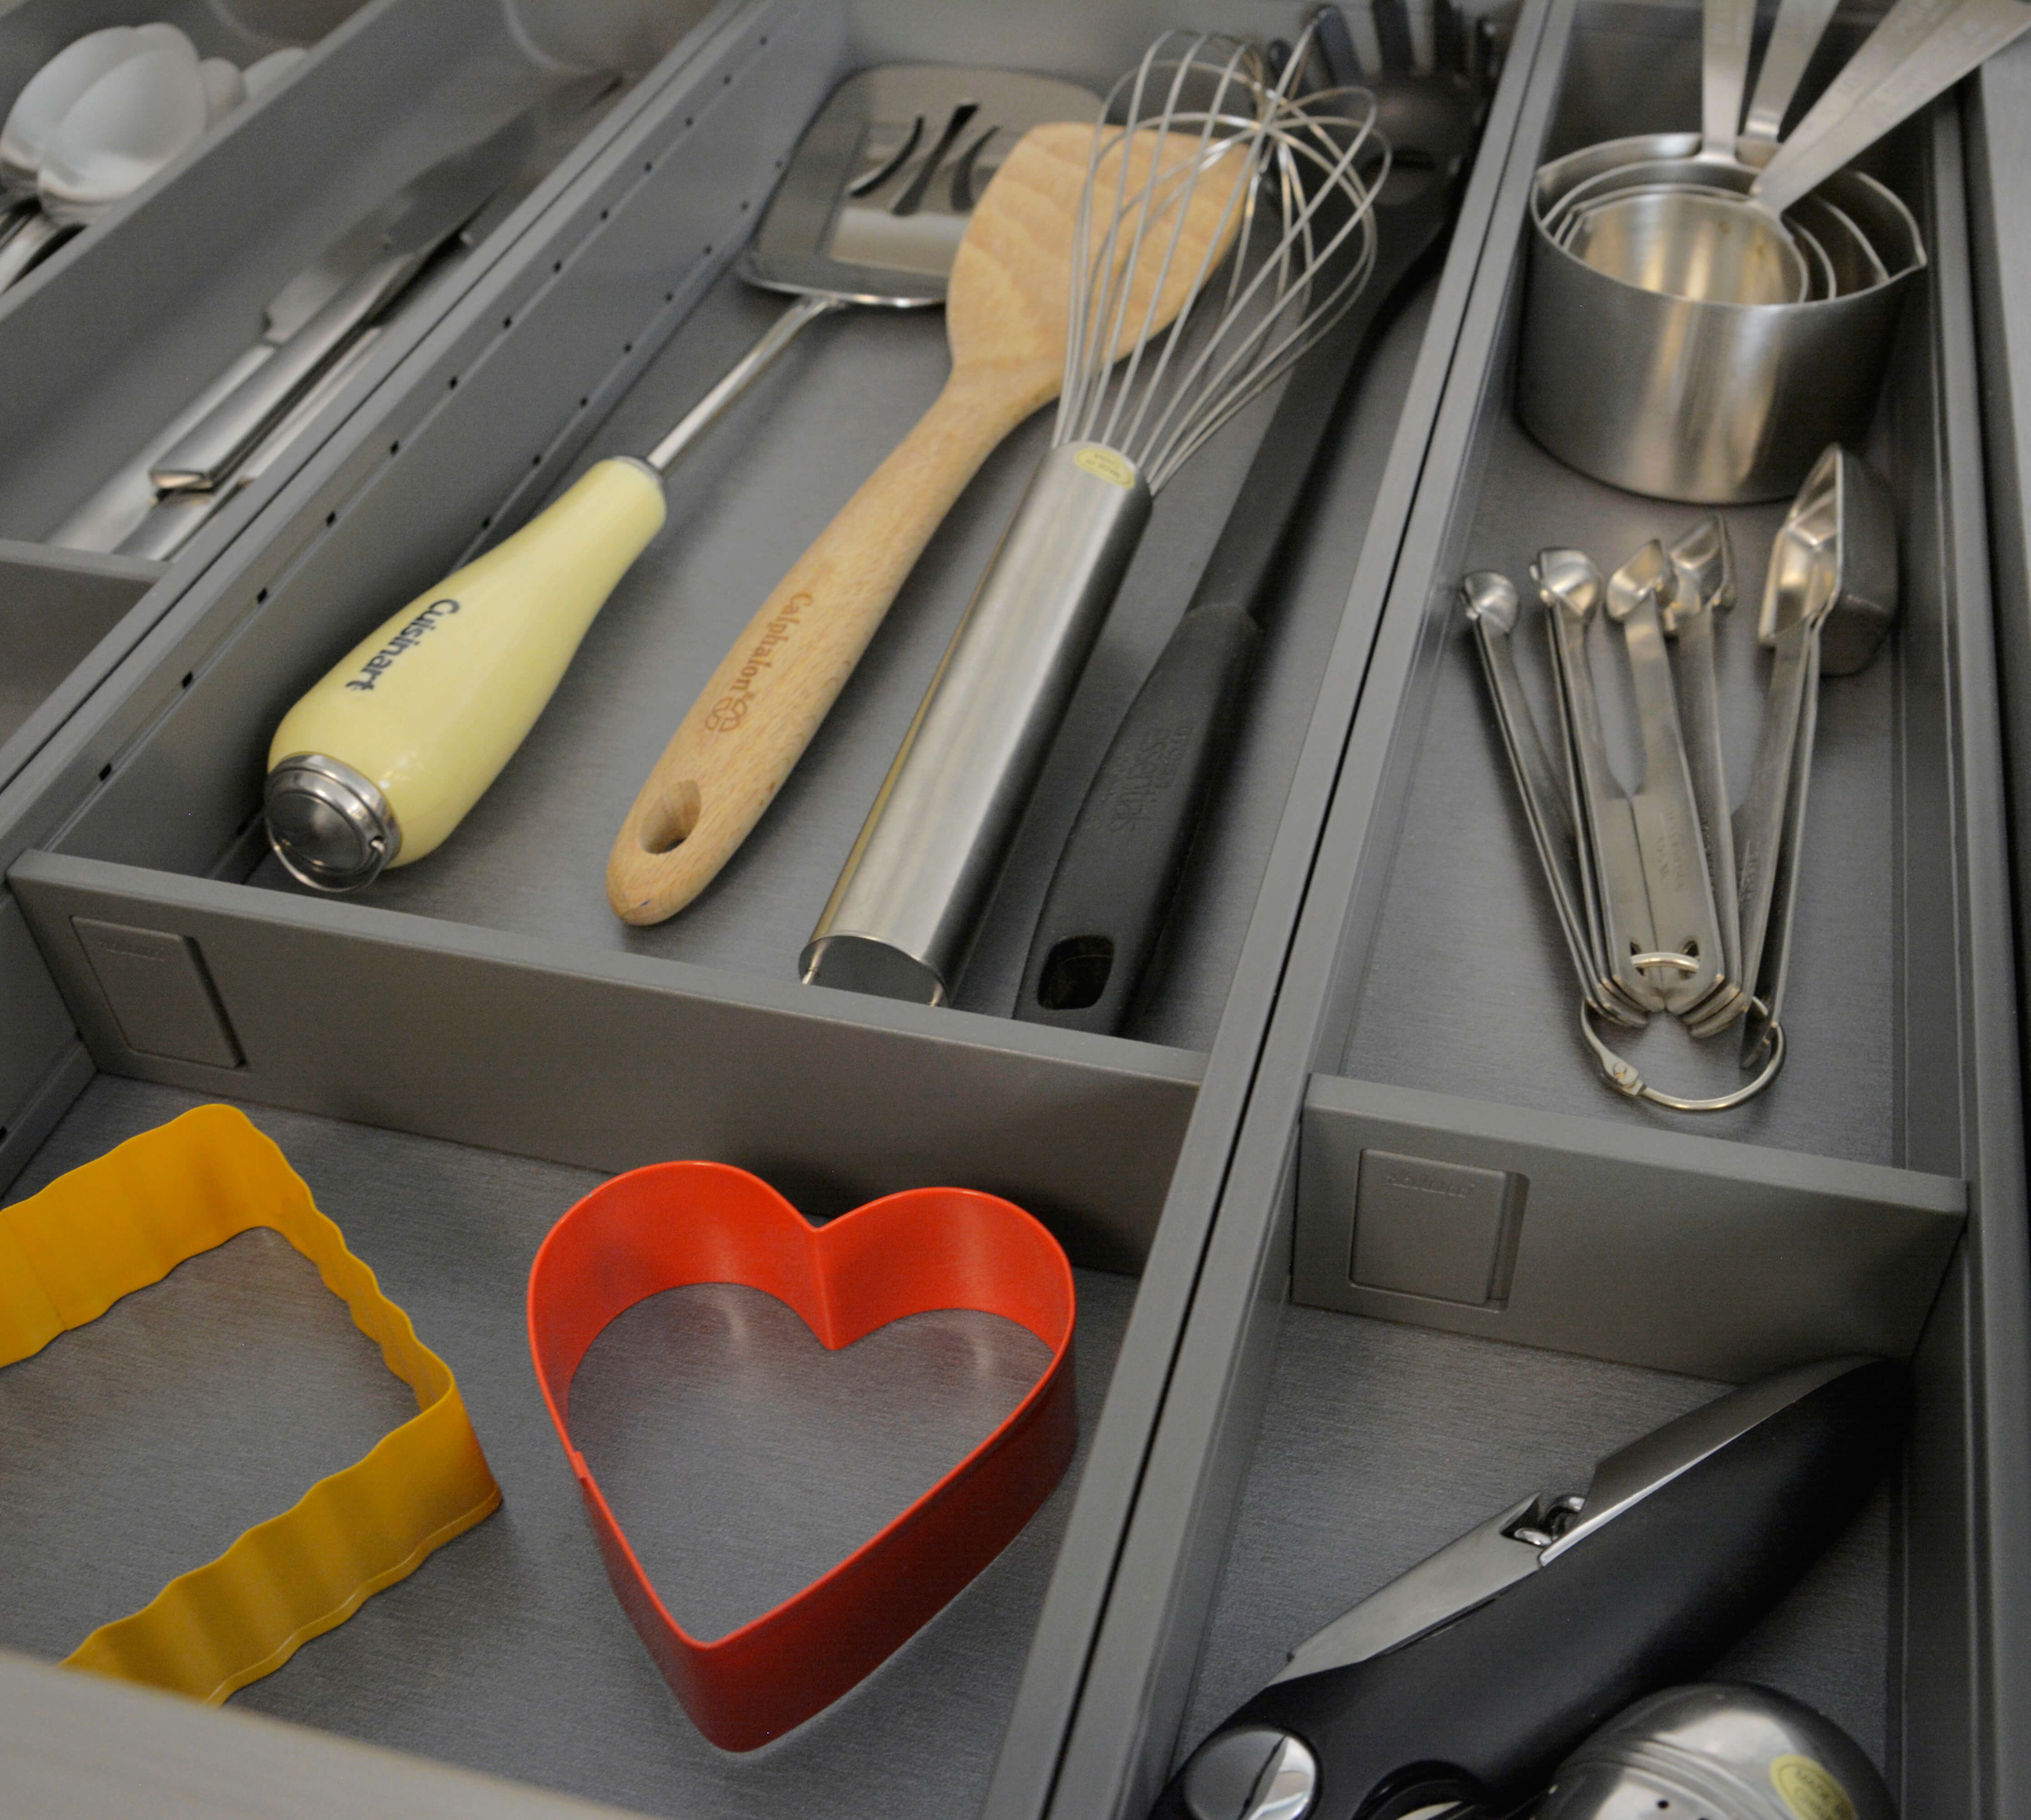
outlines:
{"label": "silver metal table knife lying topmost in the upper-left tray", "polygon": [[[162,453],[150,477],[162,492],[215,488],[274,429],[345,345],[422,270],[524,162],[534,110],[477,146],[433,165],[374,211],[372,256],[274,353]],[[366,223],[362,223],[366,225]],[[341,240],[355,240],[347,230]],[[325,264],[331,254],[319,258]]]}

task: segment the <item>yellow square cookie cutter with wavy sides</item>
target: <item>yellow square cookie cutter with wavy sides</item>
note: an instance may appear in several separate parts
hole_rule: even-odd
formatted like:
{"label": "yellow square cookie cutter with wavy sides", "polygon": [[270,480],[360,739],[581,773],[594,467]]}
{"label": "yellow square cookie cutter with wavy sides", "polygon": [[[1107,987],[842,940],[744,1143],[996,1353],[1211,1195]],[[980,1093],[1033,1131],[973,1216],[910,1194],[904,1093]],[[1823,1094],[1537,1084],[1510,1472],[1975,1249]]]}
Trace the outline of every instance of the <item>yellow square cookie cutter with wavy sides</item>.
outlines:
{"label": "yellow square cookie cutter with wavy sides", "polygon": [[451,1367],[416,1339],[282,1152],[227,1105],[130,1138],[0,1209],[0,1365],[252,1227],[270,1227],[317,1265],[416,1393],[416,1416],[132,1617],[100,1625],[63,1664],[213,1706],[502,1501]]}

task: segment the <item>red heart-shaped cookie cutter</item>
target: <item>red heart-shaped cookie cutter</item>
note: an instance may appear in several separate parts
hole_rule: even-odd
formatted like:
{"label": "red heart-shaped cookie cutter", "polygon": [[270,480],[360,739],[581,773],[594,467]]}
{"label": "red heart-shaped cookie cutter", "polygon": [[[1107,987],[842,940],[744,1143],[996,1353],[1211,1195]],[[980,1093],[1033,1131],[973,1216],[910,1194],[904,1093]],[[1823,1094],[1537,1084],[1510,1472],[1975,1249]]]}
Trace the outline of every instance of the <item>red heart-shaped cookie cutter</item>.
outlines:
{"label": "red heart-shaped cookie cutter", "polygon": [[[601,1328],[684,1284],[747,1284],[788,1302],[829,1351],[934,1308],[1026,1326],[1050,1365],[951,1473],[831,1572],[774,1611],[701,1643],[664,1609],[571,1444],[571,1379]],[[768,1182],[713,1162],[664,1162],[595,1188],[528,1274],[536,1379],[579,1481],[607,1578],[699,1731],[751,1751],[871,1674],[987,1566],[1072,1458],[1072,1270],[1020,1207],[967,1188],[912,1188],[810,1225]]]}

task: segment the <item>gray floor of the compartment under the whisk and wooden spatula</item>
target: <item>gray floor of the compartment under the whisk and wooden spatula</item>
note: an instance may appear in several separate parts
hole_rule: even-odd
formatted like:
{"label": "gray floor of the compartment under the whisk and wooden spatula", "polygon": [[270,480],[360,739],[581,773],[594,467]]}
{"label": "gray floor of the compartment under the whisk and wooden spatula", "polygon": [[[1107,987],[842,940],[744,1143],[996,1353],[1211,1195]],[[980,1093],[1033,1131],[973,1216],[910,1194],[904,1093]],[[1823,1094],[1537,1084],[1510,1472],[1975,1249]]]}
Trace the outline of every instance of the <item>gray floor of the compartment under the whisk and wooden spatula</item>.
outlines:
{"label": "gray floor of the compartment under the whisk and wooden spatula", "polygon": [[[1428,309],[1426,288],[1395,317],[1347,412],[1340,457],[1320,485],[1320,510],[1251,680],[1245,735],[1208,806],[1210,839],[1194,849],[1180,890],[1170,957],[1129,1036],[1184,1050],[1213,1046]],[[735,276],[719,278],[559,485],[593,459],[652,447],[776,315],[778,299]],[[711,674],[772,579],[847,502],[871,451],[902,441],[946,370],[936,313],[855,311],[802,337],[672,471],[662,532],[601,609],[550,707],[457,835],[429,859],[384,873],[355,902],[796,979],[798,953],[867,804],[1048,447],[1050,410],[989,457],[810,750],[697,904],[654,928],[619,922],[605,902],[607,849],[697,680]],[[1271,402],[1245,412],[1158,500],[967,965],[955,999],[963,1010],[1009,1012],[1083,784],[1190,595]],[[837,425],[851,425],[851,435],[835,435]],[[272,855],[260,859],[250,884],[309,896]]]}

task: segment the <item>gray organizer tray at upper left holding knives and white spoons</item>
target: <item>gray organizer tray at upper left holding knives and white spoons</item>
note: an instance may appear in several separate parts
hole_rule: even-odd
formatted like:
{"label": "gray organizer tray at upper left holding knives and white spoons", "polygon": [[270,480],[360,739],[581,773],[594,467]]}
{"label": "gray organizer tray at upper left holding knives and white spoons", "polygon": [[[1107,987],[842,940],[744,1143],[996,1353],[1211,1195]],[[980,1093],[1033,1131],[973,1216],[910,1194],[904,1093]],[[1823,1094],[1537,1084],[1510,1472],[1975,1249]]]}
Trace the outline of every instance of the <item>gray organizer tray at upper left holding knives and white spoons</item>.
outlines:
{"label": "gray organizer tray at upper left holding knives and white spoons", "polygon": [[[668,8],[674,41],[703,0]],[[57,542],[67,520],[262,339],[268,299],[386,195],[583,77],[522,49],[498,0],[26,0],[0,18],[0,95],[71,39],[165,18],[199,55],[311,55],[162,175],[0,292],[0,784],[134,650],[424,327],[642,104],[571,95],[544,116],[540,193],[449,260],[380,327],[262,473],[169,561]],[[640,71],[636,71],[640,75]],[[589,140],[579,150],[575,142]],[[532,165],[532,169],[536,167]]]}

